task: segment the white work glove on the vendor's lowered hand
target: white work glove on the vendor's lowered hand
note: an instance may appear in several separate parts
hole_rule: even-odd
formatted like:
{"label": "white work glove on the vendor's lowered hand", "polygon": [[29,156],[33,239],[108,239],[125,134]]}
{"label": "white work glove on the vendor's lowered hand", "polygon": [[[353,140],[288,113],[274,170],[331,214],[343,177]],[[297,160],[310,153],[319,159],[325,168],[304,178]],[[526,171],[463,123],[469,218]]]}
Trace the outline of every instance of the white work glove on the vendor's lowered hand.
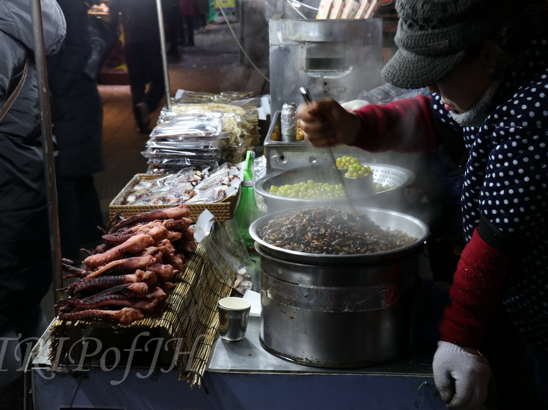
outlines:
{"label": "white work glove on the vendor's lowered hand", "polygon": [[484,408],[491,368],[477,350],[438,341],[432,368],[436,388],[447,408]]}

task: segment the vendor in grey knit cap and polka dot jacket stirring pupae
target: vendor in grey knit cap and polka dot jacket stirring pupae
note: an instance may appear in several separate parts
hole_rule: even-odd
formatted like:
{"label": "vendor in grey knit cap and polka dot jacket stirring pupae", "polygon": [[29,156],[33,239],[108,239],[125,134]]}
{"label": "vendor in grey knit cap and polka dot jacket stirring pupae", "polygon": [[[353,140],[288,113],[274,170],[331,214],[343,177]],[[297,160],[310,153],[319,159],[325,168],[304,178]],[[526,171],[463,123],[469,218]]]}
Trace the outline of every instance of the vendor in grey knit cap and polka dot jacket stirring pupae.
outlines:
{"label": "vendor in grey knit cap and polka dot jacket stirring pupae", "polygon": [[451,409],[548,408],[548,3],[396,8],[399,49],[383,77],[432,96],[353,112],[333,100],[300,105],[305,138],[372,152],[464,141],[467,243],[438,324],[434,380]]}

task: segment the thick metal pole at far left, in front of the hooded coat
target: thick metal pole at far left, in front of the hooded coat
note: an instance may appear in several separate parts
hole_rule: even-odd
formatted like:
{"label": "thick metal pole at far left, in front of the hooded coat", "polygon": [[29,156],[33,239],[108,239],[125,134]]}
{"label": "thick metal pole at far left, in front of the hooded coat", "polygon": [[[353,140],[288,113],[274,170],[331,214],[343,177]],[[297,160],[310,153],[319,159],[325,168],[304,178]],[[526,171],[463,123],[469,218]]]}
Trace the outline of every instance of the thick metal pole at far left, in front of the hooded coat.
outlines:
{"label": "thick metal pole at far left, in front of the hooded coat", "polygon": [[[44,28],[42,24],[42,4],[40,0],[30,0],[32,33],[35,43],[36,78],[38,81],[38,102],[41,113],[42,152],[49,221],[49,247],[52,255],[53,285],[62,288],[61,241],[59,235],[59,211],[57,209],[57,185],[53,156],[52,118],[49,107],[48,72],[45,62]],[[64,298],[62,291],[54,292],[55,301]]]}

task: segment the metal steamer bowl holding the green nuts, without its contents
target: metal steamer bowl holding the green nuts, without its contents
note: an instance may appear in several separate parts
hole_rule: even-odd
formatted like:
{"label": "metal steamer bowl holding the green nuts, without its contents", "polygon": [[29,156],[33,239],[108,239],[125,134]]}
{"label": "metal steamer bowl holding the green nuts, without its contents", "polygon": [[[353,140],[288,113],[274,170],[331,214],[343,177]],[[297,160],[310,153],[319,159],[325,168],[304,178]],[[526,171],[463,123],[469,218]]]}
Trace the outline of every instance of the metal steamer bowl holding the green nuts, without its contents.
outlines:
{"label": "metal steamer bowl holding the green nuts, without its contents", "polygon": [[[409,186],[415,179],[415,174],[406,168],[370,163],[369,165],[373,171],[373,182],[381,185],[390,185],[393,188],[380,191],[361,191],[359,189],[353,189],[351,184],[347,185],[347,192],[352,196],[352,201],[355,205],[367,205],[381,208],[398,208],[399,202],[403,199],[403,189]],[[272,174],[263,176],[255,181],[255,192],[261,195],[264,199],[265,205],[268,207],[269,212],[276,212],[277,210],[293,208],[297,206],[313,207],[319,204],[326,206],[338,206],[347,205],[348,198],[334,198],[326,200],[306,200],[302,198],[288,198],[270,193],[270,187],[272,185],[281,186],[286,184],[296,184],[300,182],[306,182],[311,179],[315,183],[329,183],[340,184],[340,177],[336,175],[336,172],[340,172],[330,165],[313,165],[307,167],[298,167],[278,171]],[[350,182],[350,180],[349,180]]]}

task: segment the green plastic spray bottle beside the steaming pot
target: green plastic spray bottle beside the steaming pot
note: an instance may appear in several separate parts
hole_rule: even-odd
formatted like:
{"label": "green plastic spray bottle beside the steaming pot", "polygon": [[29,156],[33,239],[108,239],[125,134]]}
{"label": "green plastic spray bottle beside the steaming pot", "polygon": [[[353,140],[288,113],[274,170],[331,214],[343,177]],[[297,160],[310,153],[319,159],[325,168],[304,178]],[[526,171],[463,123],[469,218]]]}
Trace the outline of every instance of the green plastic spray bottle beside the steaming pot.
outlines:
{"label": "green plastic spray bottle beside the steaming pot", "polygon": [[238,230],[247,248],[252,248],[255,244],[255,240],[249,235],[249,225],[259,218],[259,216],[260,211],[257,208],[255,192],[253,191],[253,151],[248,150],[238,206],[234,212],[234,219],[238,224]]}

